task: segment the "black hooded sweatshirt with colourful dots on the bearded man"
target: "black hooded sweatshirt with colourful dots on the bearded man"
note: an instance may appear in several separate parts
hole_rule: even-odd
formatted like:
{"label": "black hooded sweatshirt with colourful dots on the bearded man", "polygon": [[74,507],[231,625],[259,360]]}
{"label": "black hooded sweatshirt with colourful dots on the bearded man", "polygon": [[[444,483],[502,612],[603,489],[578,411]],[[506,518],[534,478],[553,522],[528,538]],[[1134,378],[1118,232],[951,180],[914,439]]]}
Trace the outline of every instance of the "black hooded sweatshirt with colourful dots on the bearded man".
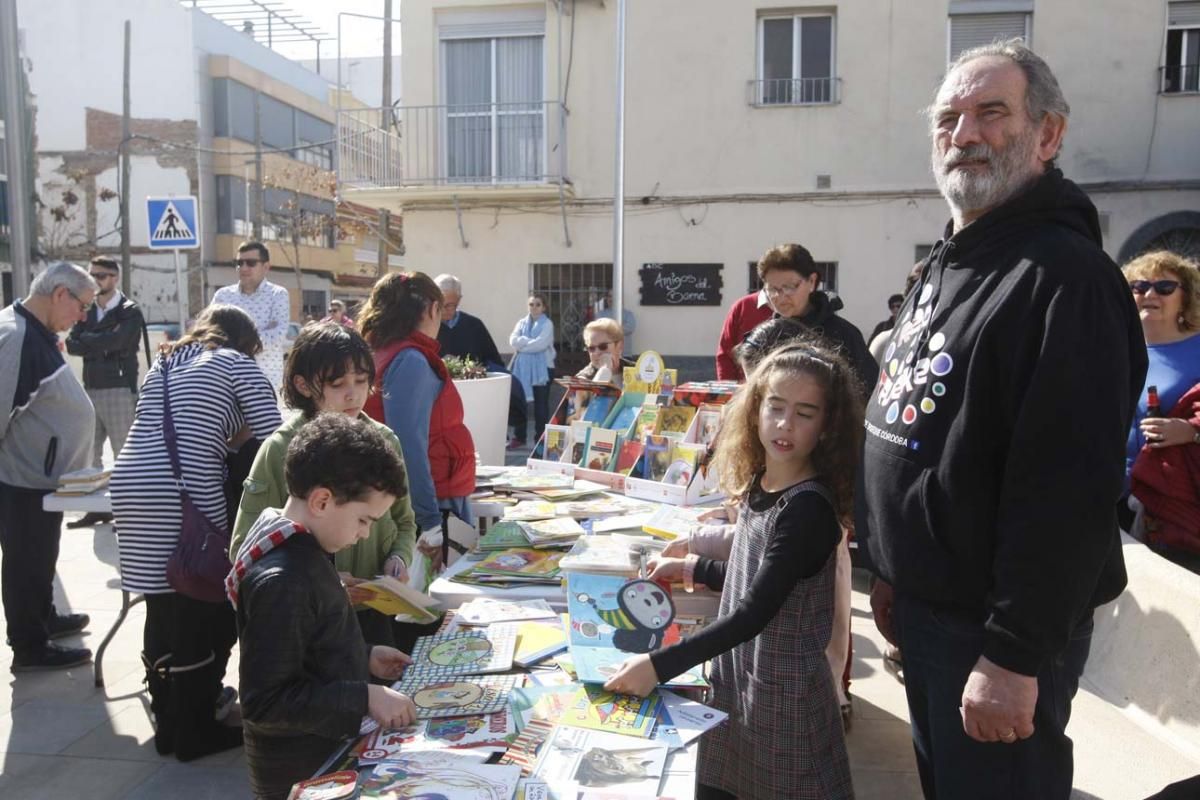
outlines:
{"label": "black hooded sweatshirt with colourful dots on the bearded man", "polygon": [[1057,169],[946,236],[866,408],[856,536],[898,593],[1026,675],[1121,594],[1123,441],[1146,375],[1096,207]]}

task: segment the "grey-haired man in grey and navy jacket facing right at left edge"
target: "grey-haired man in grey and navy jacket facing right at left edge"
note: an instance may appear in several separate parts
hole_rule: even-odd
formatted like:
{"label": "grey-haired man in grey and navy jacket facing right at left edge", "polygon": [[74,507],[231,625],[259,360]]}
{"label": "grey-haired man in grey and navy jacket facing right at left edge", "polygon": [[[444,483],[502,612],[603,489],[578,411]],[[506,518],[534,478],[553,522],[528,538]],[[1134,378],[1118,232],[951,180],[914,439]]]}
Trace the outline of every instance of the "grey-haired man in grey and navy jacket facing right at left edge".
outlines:
{"label": "grey-haired man in grey and navy jacket facing right at left edge", "polygon": [[95,410],[58,335],[88,318],[96,289],[86,270],[59,261],[0,311],[0,583],[14,673],[91,660],[91,650],[50,640],[89,620],[54,608],[62,513],[44,511],[42,499],[59,475],[91,462]]}

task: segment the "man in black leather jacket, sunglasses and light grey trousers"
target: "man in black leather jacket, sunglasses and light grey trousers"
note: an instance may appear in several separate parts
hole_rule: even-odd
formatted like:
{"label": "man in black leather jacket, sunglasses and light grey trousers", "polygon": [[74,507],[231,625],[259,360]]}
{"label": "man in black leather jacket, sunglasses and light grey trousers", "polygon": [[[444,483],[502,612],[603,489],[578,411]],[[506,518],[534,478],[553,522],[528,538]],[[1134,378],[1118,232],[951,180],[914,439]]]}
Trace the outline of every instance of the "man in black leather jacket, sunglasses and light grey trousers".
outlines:
{"label": "man in black leather jacket, sunglasses and light grey trousers", "polygon": [[[150,367],[150,337],[137,303],[121,294],[121,266],[108,255],[91,259],[89,270],[100,287],[88,318],[67,335],[67,353],[83,357],[83,386],[96,409],[96,437],[91,465],[103,465],[104,440],[113,458],[125,446],[138,403],[138,348],[144,347]],[[89,512],[67,528],[91,528],[112,522],[110,513]]]}

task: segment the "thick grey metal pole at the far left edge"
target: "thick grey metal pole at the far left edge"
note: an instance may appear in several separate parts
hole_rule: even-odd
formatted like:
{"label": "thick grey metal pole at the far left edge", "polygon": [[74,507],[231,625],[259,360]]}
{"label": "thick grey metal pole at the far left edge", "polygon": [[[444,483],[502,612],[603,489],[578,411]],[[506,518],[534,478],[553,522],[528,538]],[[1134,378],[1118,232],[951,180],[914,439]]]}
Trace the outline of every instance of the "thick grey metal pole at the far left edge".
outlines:
{"label": "thick grey metal pole at the far left edge", "polygon": [[5,155],[8,158],[8,249],[12,259],[12,295],[29,295],[32,227],[29,216],[32,185],[25,162],[25,94],[22,91],[20,53],[17,52],[17,0],[0,0],[0,59],[4,59]]}

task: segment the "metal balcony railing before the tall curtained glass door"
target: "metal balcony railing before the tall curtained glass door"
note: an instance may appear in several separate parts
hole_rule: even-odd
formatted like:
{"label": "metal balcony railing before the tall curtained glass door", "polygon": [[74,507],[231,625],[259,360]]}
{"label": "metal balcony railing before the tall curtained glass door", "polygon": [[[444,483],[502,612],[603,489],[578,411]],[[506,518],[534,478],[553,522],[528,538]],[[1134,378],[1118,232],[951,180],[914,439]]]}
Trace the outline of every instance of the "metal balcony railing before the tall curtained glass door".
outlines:
{"label": "metal balcony railing before the tall curtained glass door", "polygon": [[565,179],[565,114],[556,101],[343,109],[338,182],[364,188],[557,184]]}

